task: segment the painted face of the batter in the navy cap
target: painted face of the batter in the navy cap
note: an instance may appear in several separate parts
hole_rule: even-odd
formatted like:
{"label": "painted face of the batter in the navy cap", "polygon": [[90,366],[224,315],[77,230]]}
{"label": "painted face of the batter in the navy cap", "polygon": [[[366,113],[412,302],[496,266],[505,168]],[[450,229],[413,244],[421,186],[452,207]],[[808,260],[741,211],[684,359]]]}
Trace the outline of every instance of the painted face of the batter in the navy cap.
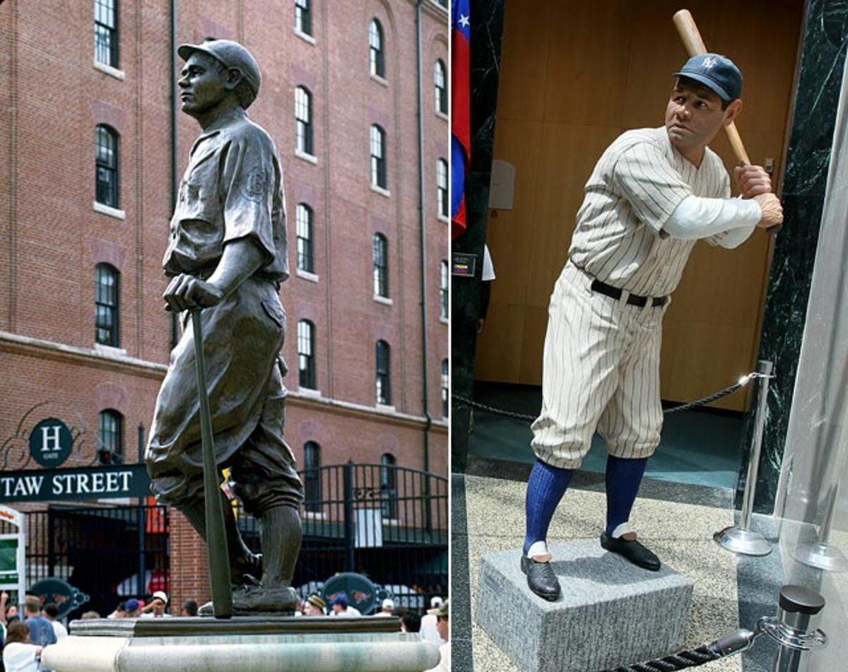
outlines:
{"label": "painted face of the batter in the navy cap", "polygon": [[668,137],[678,152],[691,160],[692,154],[703,152],[722,126],[734,120],[741,106],[734,100],[722,109],[717,93],[678,81],[666,108]]}

